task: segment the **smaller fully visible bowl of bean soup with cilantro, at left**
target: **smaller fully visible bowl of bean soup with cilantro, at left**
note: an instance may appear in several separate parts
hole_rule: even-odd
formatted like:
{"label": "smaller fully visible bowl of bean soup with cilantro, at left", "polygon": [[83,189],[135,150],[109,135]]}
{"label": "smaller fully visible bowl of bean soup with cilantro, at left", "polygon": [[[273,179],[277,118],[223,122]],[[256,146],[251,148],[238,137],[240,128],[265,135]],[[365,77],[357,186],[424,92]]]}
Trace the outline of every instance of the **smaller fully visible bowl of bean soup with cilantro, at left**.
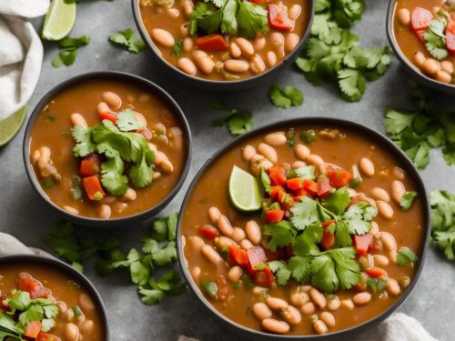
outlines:
{"label": "smaller fully visible bowl of bean soup with cilantro, at left", "polygon": [[155,216],[183,184],[190,157],[180,107],[136,75],[90,73],[57,85],[25,131],[32,186],[78,225],[125,226]]}

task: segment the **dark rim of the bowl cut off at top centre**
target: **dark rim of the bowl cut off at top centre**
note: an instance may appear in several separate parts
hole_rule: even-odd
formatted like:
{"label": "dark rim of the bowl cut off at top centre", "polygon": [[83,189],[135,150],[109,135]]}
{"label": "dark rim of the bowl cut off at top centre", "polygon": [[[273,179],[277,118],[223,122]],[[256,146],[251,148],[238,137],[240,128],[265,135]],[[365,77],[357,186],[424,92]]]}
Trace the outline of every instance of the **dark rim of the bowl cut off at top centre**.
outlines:
{"label": "dark rim of the bowl cut off at top centre", "polygon": [[304,34],[302,35],[301,39],[298,41],[298,45],[294,48],[294,50],[292,50],[288,55],[286,55],[285,58],[283,58],[277,65],[270,67],[265,72],[263,72],[259,75],[253,75],[252,77],[239,79],[238,81],[217,81],[217,80],[211,80],[211,79],[198,77],[195,75],[187,75],[183,71],[179,70],[175,65],[171,65],[159,53],[159,49],[153,43],[150,35],[148,35],[148,33],[147,33],[147,29],[146,29],[145,25],[143,24],[141,15],[140,15],[139,0],[131,0],[131,5],[133,7],[133,16],[135,18],[136,27],[139,30],[140,35],[142,35],[142,38],[146,41],[148,47],[152,50],[152,53],[157,55],[157,58],[164,65],[167,65],[167,70],[171,70],[172,72],[175,72],[176,75],[183,76],[188,81],[197,82],[200,85],[207,85],[207,88],[210,88],[210,87],[214,88],[217,85],[232,85],[232,87],[235,88],[238,85],[249,86],[255,82],[258,82],[258,84],[259,84],[260,80],[264,79],[269,73],[276,71],[281,66],[287,65],[288,61],[292,61],[295,58],[297,58],[297,56],[300,54],[301,50],[303,49],[305,43],[307,42],[309,33],[311,31],[311,25],[313,24],[313,18],[315,15],[315,1],[316,0],[308,0],[309,5],[310,5],[308,25],[307,25],[307,28],[306,28]]}

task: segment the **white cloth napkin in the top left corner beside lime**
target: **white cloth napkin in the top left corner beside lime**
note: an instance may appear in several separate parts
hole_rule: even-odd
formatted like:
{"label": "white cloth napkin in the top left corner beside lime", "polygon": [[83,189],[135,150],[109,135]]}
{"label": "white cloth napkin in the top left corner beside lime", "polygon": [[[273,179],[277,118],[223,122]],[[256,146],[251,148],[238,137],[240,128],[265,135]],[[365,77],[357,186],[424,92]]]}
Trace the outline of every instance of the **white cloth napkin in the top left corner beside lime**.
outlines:
{"label": "white cloth napkin in the top left corner beside lime", "polygon": [[45,15],[49,0],[0,0],[0,120],[25,105],[35,90],[43,45],[26,18]]}

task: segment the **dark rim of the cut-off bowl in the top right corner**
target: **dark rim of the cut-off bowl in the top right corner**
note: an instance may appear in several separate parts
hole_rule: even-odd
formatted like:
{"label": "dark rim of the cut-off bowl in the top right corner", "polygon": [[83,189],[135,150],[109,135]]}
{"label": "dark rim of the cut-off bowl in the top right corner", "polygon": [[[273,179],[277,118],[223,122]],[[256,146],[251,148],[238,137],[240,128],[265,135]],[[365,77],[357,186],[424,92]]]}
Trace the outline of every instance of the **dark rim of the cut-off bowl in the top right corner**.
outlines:
{"label": "dark rim of the cut-off bowl in the top right corner", "polygon": [[397,41],[395,40],[395,33],[393,30],[393,18],[395,14],[395,7],[397,0],[389,0],[389,8],[387,10],[387,37],[393,52],[399,59],[399,63],[404,67],[406,72],[410,74],[420,85],[430,87],[431,89],[442,91],[451,95],[455,95],[455,85],[441,83],[428,75],[423,74],[420,69],[413,65],[406,55],[403,55]]}

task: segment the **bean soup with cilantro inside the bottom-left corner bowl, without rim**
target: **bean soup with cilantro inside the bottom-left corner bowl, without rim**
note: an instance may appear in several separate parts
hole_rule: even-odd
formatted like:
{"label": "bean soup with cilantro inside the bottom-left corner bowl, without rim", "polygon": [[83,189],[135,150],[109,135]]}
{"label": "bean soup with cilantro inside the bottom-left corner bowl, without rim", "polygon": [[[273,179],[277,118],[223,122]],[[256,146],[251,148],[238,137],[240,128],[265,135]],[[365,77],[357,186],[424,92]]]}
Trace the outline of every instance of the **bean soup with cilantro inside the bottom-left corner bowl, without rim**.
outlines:
{"label": "bean soup with cilantro inside the bottom-left corner bowl, without rim", "polygon": [[26,324],[23,326],[15,320],[15,326],[25,329],[28,339],[106,340],[106,330],[92,298],[83,287],[48,266],[0,266],[0,290],[3,321],[12,318],[8,312],[19,301],[18,297],[22,298],[20,302],[24,306],[15,306],[16,315],[19,315],[18,321],[24,320]]}

